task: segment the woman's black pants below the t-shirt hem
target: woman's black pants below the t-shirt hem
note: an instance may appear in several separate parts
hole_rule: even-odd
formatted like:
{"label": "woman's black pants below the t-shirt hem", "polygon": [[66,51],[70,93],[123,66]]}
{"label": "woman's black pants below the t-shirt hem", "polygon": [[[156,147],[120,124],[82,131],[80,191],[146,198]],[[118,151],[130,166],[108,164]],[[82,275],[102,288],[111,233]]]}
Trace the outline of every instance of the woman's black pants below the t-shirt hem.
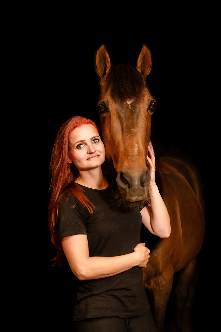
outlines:
{"label": "woman's black pants below the t-shirt hem", "polygon": [[131,318],[87,318],[74,322],[75,332],[157,332],[150,310]]}

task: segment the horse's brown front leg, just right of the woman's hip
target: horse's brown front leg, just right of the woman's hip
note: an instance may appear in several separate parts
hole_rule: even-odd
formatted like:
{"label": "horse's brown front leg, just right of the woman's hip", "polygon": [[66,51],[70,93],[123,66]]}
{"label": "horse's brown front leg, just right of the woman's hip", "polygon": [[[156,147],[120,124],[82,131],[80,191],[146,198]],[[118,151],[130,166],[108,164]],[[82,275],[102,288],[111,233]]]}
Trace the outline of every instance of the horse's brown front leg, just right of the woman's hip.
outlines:
{"label": "horse's brown front leg, just right of the woman's hip", "polygon": [[168,266],[166,270],[145,285],[151,293],[150,309],[158,332],[164,332],[164,319],[173,283],[173,274],[173,267]]}

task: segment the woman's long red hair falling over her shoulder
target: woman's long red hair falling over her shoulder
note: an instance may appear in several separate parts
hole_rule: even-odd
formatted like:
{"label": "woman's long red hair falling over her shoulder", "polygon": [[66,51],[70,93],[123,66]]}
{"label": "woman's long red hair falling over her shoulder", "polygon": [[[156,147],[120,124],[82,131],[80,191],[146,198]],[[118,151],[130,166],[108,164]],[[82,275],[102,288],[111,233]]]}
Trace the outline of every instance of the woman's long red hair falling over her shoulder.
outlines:
{"label": "woman's long red hair falling over her shoulder", "polygon": [[57,249],[57,256],[53,259],[54,265],[61,266],[64,261],[64,251],[58,238],[55,221],[58,215],[58,204],[61,196],[65,193],[73,194],[84,208],[87,208],[90,215],[93,214],[94,206],[83,194],[82,188],[77,186],[74,181],[79,176],[79,171],[74,163],[68,162],[69,136],[70,133],[84,124],[92,124],[99,132],[97,125],[90,119],[84,117],[73,117],[62,124],[58,131],[54,147],[51,153],[50,174],[51,198],[48,205],[49,217],[48,227],[51,234],[51,241]]}

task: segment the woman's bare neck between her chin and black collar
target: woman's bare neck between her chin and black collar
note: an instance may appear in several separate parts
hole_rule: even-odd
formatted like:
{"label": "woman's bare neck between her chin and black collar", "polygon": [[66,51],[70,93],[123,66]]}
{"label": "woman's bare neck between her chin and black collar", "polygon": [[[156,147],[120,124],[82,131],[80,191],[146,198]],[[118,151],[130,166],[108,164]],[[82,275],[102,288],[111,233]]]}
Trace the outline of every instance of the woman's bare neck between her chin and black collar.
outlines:
{"label": "woman's bare neck between her chin and black collar", "polygon": [[104,178],[101,168],[80,172],[79,177],[75,182],[91,189],[101,190],[108,187],[108,182]]}

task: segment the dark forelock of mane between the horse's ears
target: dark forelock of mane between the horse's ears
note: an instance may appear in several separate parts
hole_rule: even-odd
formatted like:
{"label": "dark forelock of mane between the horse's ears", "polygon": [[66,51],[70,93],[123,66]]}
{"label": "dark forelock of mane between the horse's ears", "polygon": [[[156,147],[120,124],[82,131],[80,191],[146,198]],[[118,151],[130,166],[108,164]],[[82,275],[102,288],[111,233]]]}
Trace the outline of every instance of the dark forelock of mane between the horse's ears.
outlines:
{"label": "dark forelock of mane between the horse's ears", "polygon": [[138,97],[145,87],[142,74],[130,64],[112,66],[106,82],[111,97],[120,101]]}

